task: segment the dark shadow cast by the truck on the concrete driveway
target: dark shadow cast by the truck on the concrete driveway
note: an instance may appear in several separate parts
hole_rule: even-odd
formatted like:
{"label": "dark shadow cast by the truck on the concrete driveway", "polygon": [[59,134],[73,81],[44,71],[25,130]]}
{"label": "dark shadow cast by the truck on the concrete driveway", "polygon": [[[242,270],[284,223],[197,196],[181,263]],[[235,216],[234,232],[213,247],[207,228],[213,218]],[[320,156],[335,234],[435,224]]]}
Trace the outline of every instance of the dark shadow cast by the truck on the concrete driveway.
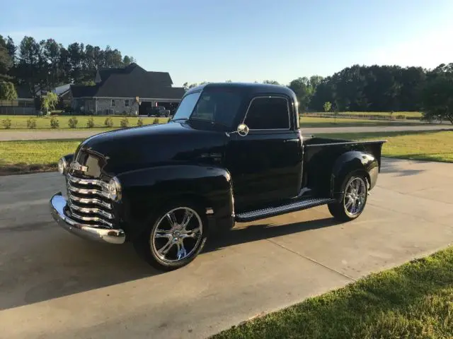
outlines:
{"label": "dark shadow cast by the truck on the concrete driveway", "polygon": [[[272,223],[247,225],[213,237],[202,255],[227,246],[270,239],[285,234],[336,225],[331,218],[275,226]],[[0,310],[97,290],[143,278],[166,278],[141,260],[132,244],[111,246],[87,242],[72,234],[50,227],[23,227],[20,231],[4,230],[14,249],[8,249],[0,266]],[[33,242],[23,242],[33,237]],[[199,259],[199,258],[198,258]],[[197,258],[195,259],[195,261]],[[196,266],[195,266],[196,267]],[[173,271],[174,275],[190,274],[191,266]],[[181,278],[182,279],[182,278]],[[105,290],[108,294],[108,290]]]}

